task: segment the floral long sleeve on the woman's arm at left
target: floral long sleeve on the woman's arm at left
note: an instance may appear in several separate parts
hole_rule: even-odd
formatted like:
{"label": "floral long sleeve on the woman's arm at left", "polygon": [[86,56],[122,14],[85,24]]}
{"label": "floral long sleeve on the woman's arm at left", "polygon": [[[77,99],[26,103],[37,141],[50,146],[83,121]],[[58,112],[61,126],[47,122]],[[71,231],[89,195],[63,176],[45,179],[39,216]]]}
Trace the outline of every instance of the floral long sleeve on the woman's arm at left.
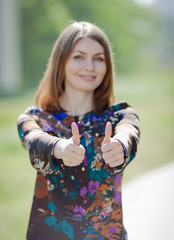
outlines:
{"label": "floral long sleeve on the woman's arm at left", "polygon": [[18,132],[23,147],[29,151],[30,161],[32,166],[44,174],[57,174],[64,171],[62,161],[53,157],[53,148],[58,137],[53,136],[53,130],[48,129],[51,126],[47,125],[49,133],[45,132],[38,123],[35,108],[29,108],[18,118]]}

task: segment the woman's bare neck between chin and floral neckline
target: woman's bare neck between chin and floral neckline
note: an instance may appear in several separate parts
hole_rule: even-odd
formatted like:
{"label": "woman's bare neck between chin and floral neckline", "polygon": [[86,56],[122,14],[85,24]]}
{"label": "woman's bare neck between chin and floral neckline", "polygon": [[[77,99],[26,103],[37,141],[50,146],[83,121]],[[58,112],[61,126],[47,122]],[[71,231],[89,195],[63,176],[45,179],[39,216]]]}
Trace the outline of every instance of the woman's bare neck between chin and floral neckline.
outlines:
{"label": "woman's bare neck between chin and floral neckline", "polygon": [[61,107],[67,111],[69,115],[83,115],[93,109],[93,92],[73,92],[65,91]]}

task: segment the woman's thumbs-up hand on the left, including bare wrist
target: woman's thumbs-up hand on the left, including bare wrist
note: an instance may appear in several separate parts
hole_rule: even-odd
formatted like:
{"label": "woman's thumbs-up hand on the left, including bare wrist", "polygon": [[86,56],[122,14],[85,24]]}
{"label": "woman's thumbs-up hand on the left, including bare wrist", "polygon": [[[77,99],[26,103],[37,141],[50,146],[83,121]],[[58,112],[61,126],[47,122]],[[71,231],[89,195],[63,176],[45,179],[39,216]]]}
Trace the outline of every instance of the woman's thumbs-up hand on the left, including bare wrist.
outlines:
{"label": "woman's thumbs-up hand on the left, including bare wrist", "polygon": [[60,139],[54,148],[54,156],[62,159],[66,166],[74,167],[82,163],[85,148],[80,145],[79,129],[75,122],[71,124],[72,137]]}

